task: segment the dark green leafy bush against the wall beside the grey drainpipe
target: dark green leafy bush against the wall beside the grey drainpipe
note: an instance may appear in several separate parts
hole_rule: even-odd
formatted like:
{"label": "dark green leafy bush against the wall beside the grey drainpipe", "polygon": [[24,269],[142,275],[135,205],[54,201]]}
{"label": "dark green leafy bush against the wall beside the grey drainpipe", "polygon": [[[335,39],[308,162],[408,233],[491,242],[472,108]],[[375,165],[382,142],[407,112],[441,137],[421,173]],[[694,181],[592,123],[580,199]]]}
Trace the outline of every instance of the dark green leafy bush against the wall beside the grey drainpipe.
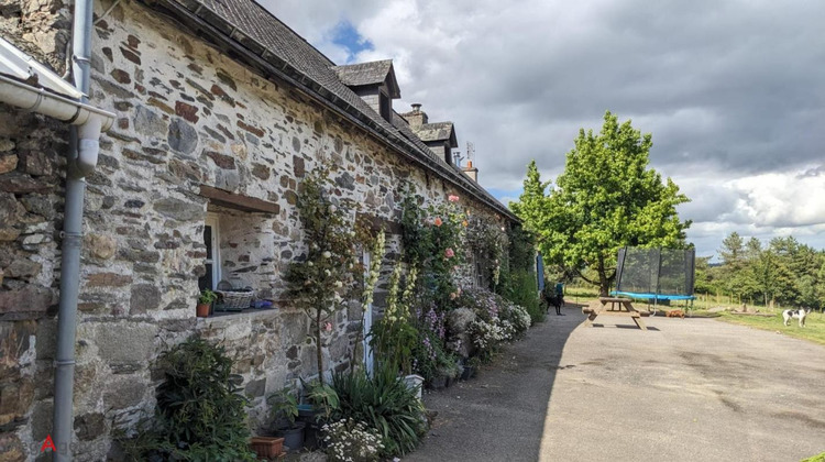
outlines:
{"label": "dark green leafy bush against the wall beside the grey drainpipe", "polygon": [[191,337],[163,353],[153,418],[121,440],[132,460],[254,461],[243,378],[223,346]]}

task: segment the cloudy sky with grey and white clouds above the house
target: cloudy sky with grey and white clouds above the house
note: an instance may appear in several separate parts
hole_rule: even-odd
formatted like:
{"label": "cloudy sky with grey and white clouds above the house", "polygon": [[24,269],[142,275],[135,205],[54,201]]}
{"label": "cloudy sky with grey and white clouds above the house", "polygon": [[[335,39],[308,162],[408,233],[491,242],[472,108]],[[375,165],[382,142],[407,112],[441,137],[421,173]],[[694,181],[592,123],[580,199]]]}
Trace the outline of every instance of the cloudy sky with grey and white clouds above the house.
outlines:
{"label": "cloudy sky with grey and white clouds above the house", "polygon": [[505,204],[610,110],[652,133],[700,255],[732,231],[825,248],[821,0],[258,1],[338,64],[392,58],[395,109],[453,121]]}

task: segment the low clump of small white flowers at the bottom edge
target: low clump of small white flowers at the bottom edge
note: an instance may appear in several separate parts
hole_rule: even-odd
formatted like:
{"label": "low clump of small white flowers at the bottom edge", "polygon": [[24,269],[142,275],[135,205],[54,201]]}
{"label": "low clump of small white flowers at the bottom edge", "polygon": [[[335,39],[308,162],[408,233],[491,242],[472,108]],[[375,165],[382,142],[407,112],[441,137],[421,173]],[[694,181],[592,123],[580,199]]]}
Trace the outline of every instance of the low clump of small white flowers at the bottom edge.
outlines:
{"label": "low clump of small white flowers at the bottom edge", "polygon": [[350,418],[324,425],[327,457],[336,462],[377,462],[384,449],[378,430]]}

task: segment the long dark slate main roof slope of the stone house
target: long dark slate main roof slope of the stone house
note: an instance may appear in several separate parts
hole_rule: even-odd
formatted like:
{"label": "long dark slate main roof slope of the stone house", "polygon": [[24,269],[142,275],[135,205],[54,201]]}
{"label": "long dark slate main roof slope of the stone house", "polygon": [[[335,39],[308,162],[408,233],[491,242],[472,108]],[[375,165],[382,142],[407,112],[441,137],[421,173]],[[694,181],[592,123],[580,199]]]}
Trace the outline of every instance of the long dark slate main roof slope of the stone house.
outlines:
{"label": "long dark slate main roof slope of the stone house", "polygon": [[142,1],[197,31],[198,36],[213,45],[231,51],[237,61],[257,69],[263,76],[294,85],[351,123],[370,131],[402,156],[518,221],[512,211],[457,166],[435,155],[408,125],[404,128],[406,121],[397,122],[400,117],[394,117],[392,124],[384,120],[341,81],[334,63],[255,1]]}

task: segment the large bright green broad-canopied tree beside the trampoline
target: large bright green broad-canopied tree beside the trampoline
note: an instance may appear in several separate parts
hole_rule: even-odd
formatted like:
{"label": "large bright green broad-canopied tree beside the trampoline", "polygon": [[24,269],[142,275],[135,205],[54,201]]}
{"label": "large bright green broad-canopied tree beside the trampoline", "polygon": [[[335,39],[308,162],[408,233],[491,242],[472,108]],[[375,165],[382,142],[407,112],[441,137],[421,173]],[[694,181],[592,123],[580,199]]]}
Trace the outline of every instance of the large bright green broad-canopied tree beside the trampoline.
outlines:
{"label": "large bright green broad-canopied tree beside the trampoline", "polygon": [[[690,199],[670,178],[648,167],[651,135],[609,111],[598,134],[580,130],[556,185],[542,183],[531,162],[513,211],[536,233],[548,263],[608,294],[616,254],[625,245],[684,248],[690,221],[676,206]],[[544,191],[549,187],[549,194]],[[595,274],[595,277],[587,276]]]}

